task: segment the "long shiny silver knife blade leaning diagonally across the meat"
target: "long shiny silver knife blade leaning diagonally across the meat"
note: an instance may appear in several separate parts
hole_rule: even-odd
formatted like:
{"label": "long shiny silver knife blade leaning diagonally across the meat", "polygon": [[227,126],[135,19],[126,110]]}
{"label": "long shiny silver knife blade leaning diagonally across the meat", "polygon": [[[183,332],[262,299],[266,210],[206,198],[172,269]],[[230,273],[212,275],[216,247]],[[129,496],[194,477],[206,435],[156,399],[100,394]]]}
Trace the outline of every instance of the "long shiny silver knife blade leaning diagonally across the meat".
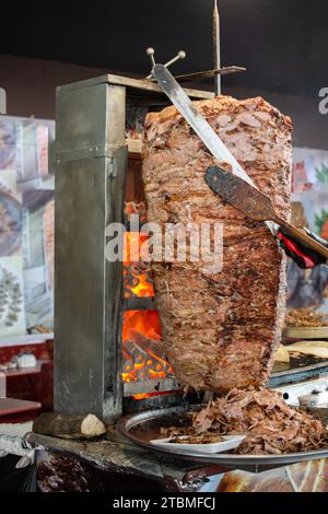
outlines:
{"label": "long shiny silver knife blade leaning diagonally across the meat", "polygon": [[[184,92],[183,87],[178,84],[167,68],[164,65],[155,65],[152,69],[152,75],[156,79],[159,85],[168,96],[173,105],[184,116],[197,136],[210,150],[212,155],[219,161],[230,164],[235,175],[256,187],[251,178],[249,178],[245,170],[221,141],[212,127],[201,116],[198,108],[192,104],[191,100]],[[268,221],[266,224],[271,233],[276,235],[274,223]]]}

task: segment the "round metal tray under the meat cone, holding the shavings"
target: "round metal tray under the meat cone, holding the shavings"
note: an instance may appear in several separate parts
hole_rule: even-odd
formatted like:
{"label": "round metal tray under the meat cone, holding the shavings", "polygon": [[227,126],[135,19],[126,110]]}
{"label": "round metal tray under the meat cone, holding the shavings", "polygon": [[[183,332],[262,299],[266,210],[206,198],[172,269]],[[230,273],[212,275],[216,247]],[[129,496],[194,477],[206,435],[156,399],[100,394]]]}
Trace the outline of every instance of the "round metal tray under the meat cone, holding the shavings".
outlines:
{"label": "round metal tray under the meat cone, holding the shavings", "polygon": [[179,406],[157,410],[147,410],[121,418],[118,422],[119,432],[133,443],[144,446],[145,448],[176,456],[179,459],[192,460],[197,463],[222,464],[238,468],[241,466],[271,466],[288,465],[300,463],[302,460],[311,460],[314,458],[328,457],[328,447],[316,449],[313,452],[300,452],[283,455],[234,455],[229,453],[222,454],[200,454],[178,452],[176,448],[154,447],[150,441],[161,437],[161,427],[172,427],[178,424],[181,414],[188,411],[199,410],[202,406]]}

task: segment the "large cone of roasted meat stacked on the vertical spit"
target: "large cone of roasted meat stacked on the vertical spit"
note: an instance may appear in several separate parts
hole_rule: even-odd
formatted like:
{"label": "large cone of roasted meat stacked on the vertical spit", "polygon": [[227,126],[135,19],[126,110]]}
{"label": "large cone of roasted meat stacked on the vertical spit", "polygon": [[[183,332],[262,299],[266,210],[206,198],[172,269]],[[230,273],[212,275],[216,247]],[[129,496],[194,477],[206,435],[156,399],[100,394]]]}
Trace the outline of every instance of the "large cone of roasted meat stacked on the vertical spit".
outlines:
{"label": "large cone of roasted meat stacked on the vertical spit", "polygon": [[[196,103],[258,188],[289,218],[289,117],[262,98]],[[145,119],[143,180],[148,220],[223,224],[223,270],[206,260],[155,262],[167,355],[180,383],[226,392],[262,385],[284,316],[285,260],[261,223],[223,203],[204,182],[215,162],[175,107]]]}

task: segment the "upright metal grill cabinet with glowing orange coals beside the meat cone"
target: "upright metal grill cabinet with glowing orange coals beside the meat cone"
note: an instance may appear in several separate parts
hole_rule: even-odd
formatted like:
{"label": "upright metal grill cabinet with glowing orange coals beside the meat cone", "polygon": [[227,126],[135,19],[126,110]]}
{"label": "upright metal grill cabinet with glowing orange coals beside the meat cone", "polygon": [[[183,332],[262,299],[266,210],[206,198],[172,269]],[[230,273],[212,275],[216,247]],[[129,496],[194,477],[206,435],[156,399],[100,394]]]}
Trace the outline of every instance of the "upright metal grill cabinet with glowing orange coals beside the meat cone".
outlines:
{"label": "upright metal grill cabinet with glowing orange coals beside the meat cone", "polygon": [[[213,96],[186,92],[191,98]],[[172,370],[164,355],[154,353],[156,341],[141,334],[138,351],[136,340],[122,341],[124,314],[140,312],[143,325],[151,323],[156,315],[154,297],[127,294],[126,262],[108,261],[105,255],[106,227],[114,222],[128,226],[131,209],[125,217],[125,201],[137,207],[142,201],[142,118],[165,105],[167,100],[154,83],[112,74],[57,90],[56,411],[92,412],[110,421],[122,410],[167,406],[177,399]],[[142,357],[148,346],[150,354]],[[131,375],[122,370],[122,361],[130,362],[129,372],[138,366],[144,372]]]}

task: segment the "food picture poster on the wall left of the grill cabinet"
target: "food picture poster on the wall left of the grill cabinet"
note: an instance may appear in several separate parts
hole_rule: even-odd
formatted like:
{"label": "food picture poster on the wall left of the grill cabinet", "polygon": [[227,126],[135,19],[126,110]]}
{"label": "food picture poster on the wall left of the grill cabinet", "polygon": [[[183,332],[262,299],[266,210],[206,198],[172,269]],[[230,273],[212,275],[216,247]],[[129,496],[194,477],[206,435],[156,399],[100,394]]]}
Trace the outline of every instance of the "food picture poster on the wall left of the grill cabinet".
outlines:
{"label": "food picture poster on the wall left of the grill cabinet", "polygon": [[52,329],[54,139],[54,121],[0,116],[1,339]]}

